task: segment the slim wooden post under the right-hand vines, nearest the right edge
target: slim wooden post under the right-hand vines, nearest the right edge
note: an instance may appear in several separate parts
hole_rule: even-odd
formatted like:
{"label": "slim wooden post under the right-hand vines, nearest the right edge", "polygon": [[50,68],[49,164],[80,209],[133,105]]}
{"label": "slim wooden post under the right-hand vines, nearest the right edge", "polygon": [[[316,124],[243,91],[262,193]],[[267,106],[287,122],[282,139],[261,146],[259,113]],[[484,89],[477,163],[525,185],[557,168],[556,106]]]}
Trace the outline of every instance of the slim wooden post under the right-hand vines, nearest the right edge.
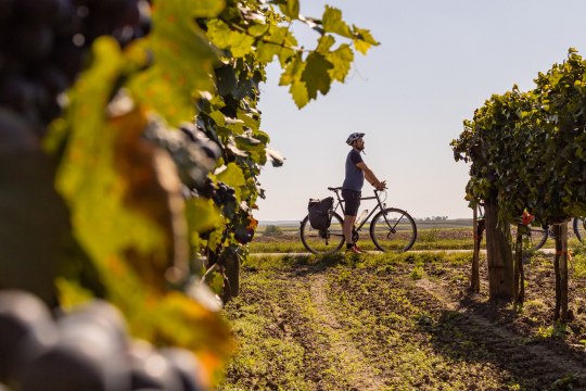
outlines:
{"label": "slim wooden post under the right-hand vines, nearest the right edge", "polygon": [[553,267],[556,269],[556,313],[555,320],[563,323],[570,320],[568,314],[568,224],[553,225],[553,237],[556,238],[556,257]]}

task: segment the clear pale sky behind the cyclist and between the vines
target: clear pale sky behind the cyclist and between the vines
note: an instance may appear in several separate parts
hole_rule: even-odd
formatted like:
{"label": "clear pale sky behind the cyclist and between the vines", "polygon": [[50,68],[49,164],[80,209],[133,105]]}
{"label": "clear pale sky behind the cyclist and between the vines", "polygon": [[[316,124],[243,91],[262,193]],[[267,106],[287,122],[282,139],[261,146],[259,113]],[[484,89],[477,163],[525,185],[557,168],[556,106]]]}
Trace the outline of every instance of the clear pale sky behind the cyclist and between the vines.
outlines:
{"label": "clear pale sky behind the cyclist and between the vines", "polygon": [[[381,42],[357,53],[336,83],[298,110],[280,68],[260,87],[262,128],[286,160],[259,177],[266,199],[260,222],[301,220],[310,198],[342,186],[351,133],[365,133],[367,165],[385,179],[387,206],[416,218],[471,217],[464,200],[469,167],[449,146],[493,93],[534,88],[539,72],[576,48],[586,56],[584,0],[301,0],[302,14],[320,17],[326,3]],[[296,27],[307,49],[317,33]],[[341,38],[339,42],[342,42]],[[362,194],[371,192],[365,185]],[[370,201],[361,205],[371,209]]]}

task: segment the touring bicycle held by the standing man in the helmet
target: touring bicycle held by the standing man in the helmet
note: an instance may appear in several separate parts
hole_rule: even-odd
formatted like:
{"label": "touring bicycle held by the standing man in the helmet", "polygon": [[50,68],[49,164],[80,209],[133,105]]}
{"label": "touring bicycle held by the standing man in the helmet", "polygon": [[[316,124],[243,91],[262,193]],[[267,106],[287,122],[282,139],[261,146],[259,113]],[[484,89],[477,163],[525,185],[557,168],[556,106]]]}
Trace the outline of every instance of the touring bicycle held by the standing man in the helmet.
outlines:
{"label": "touring bicycle held by the standing man in the helmet", "polygon": [[[341,187],[331,188],[328,190],[335,193],[337,203],[329,212],[330,227],[327,229],[315,229],[309,224],[309,215],[301,222],[301,239],[307,251],[314,254],[330,254],[339,251],[344,244],[345,238],[342,231],[343,217],[336,213],[337,209],[342,210],[344,215],[344,200],[340,193]],[[397,251],[405,252],[409,250],[417,239],[417,226],[413,218],[405,211],[396,207],[386,207],[384,200],[381,201],[380,193],[383,192],[386,200],[385,190],[373,190],[374,197],[362,197],[362,200],[377,200],[377,206],[368,213],[365,218],[356,222],[353,229],[353,240],[356,242],[359,239],[359,232],[370,219],[370,238],[374,245],[382,252]],[[367,211],[364,211],[365,213]],[[378,213],[377,213],[378,212]]]}

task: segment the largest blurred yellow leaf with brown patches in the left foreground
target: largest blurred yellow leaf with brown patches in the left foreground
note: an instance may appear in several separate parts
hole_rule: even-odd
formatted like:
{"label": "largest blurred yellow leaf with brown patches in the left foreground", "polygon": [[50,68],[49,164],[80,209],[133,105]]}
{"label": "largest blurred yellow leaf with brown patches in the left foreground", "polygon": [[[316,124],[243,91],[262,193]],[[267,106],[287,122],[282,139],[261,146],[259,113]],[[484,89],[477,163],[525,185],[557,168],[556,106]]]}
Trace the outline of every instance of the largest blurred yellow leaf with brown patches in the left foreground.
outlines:
{"label": "largest blurred yellow leaf with brown patches in the left foreground", "polygon": [[[124,68],[117,43],[98,39],[92,59],[69,94],[69,136],[56,177],[72,211],[75,237],[101,275],[109,299],[125,313],[133,337],[180,344],[217,363],[230,350],[226,325],[202,303],[166,292],[171,275],[189,256],[174,163],[141,137],[143,110],[104,115],[116,112],[111,110],[116,102],[107,102]],[[109,110],[95,110],[99,106]],[[72,289],[61,288],[72,294]],[[153,317],[153,311],[165,315]]]}

